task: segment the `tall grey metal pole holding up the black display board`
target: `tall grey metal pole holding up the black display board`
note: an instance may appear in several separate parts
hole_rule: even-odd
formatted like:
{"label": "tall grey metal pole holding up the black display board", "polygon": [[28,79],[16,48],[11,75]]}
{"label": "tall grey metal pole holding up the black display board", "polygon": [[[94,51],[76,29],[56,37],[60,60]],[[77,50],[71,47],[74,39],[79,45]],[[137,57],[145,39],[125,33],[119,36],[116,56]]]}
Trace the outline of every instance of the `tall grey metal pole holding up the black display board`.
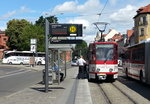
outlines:
{"label": "tall grey metal pole holding up the black display board", "polygon": [[45,92],[48,92],[48,35],[49,35],[49,22],[45,19]]}

